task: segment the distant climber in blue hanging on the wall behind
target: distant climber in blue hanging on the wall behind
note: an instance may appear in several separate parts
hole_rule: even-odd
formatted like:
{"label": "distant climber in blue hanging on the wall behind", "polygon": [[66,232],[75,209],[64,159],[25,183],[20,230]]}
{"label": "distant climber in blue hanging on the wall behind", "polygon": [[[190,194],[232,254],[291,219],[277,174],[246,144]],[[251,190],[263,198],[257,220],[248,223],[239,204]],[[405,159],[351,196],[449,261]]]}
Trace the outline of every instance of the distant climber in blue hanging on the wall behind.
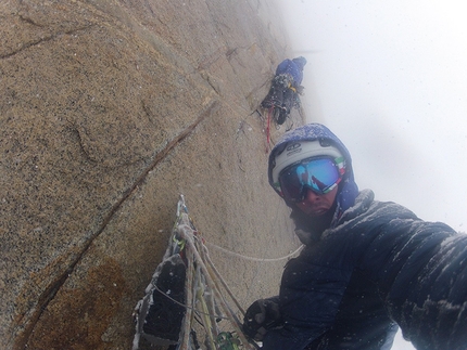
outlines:
{"label": "distant climber in blue hanging on the wall behind", "polygon": [[265,109],[278,109],[274,114],[278,125],[282,125],[286,121],[293,106],[300,106],[299,94],[303,92],[301,83],[305,64],[306,59],[300,56],[293,60],[283,60],[276,68],[276,76],[261,106]]}

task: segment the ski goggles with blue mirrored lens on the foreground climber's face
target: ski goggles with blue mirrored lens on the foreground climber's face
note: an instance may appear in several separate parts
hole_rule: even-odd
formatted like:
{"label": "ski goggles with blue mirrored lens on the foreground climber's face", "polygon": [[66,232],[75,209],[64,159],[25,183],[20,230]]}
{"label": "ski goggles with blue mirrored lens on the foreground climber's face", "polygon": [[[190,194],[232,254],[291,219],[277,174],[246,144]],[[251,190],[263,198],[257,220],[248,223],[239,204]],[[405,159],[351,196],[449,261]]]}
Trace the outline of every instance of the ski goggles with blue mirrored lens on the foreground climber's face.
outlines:
{"label": "ski goggles with blue mirrored lens on the foreground climber's face", "polygon": [[345,172],[343,157],[312,157],[285,168],[279,173],[281,195],[291,202],[305,199],[307,190],[316,194],[332,191]]}

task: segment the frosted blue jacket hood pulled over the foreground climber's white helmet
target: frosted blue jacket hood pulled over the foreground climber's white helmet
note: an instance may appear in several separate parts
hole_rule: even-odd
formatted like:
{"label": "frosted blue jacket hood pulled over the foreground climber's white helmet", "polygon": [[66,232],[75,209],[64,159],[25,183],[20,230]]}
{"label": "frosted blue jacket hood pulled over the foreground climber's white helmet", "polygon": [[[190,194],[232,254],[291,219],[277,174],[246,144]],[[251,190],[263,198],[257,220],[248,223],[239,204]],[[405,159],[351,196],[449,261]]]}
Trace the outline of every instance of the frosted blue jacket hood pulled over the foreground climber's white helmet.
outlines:
{"label": "frosted blue jacket hood pulled over the foreground climber's white helmet", "polygon": [[[336,146],[345,158],[345,173],[342,178],[339,186],[339,193],[336,197],[339,213],[342,213],[355,203],[355,198],[358,195],[358,186],[355,183],[353,169],[352,169],[352,157],[349,150],[342,143],[339,138],[332,133],[327,127],[320,124],[307,124],[292,131],[289,131],[282,135],[278,143],[274,146],[269,154],[269,166],[268,166],[268,179],[269,184],[273,189],[276,189],[273,181],[273,169],[275,167],[275,159],[278,154],[285,151],[289,143],[295,143],[300,141],[321,141],[328,142]],[[288,204],[289,205],[289,204]]]}

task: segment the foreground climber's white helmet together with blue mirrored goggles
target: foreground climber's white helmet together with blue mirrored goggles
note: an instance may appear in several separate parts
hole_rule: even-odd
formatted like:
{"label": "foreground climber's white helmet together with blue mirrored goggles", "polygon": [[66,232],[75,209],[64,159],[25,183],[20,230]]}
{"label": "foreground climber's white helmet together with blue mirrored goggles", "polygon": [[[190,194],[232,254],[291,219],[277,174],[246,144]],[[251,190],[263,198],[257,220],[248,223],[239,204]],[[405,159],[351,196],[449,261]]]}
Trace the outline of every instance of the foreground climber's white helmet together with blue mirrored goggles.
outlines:
{"label": "foreground climber's white helmet together with blue mirrored goggles", "polygon": [[327,141],[290,142],[272,164],[273,187],[288,202],[301,202],[311,190],[332,191],[345,172],[341,152]]}

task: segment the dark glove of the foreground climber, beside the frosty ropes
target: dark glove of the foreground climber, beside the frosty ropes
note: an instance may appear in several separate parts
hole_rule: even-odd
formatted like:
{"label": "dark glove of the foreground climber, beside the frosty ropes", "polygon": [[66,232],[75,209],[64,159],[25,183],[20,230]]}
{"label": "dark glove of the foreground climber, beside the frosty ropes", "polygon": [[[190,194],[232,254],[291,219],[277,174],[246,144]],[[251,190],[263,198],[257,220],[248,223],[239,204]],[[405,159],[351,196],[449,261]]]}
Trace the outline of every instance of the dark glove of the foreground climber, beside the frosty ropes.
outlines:
{"label": "dark glove of the foreground climber, beside the frosty ropes", "polygon": [[243,320],[243,332],[256,341],[282,323],[279,312],[279,297],[260,299],[248,308]]}

